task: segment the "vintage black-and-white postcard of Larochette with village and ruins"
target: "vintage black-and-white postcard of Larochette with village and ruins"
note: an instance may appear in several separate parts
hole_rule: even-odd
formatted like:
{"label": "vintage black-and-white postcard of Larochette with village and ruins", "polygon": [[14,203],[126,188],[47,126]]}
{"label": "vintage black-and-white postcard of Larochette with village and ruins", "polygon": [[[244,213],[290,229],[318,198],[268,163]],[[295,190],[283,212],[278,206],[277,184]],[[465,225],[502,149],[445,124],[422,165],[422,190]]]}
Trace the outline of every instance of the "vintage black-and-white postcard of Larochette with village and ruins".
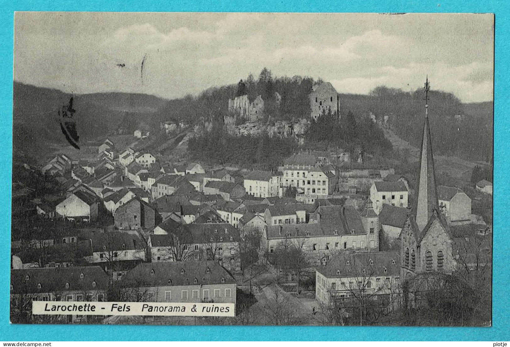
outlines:
{"label": "vintage black-and-white postcard of Larochette with village and ruins", "polygon": [[493,14],[17,12],[13,324],[492,325]]}

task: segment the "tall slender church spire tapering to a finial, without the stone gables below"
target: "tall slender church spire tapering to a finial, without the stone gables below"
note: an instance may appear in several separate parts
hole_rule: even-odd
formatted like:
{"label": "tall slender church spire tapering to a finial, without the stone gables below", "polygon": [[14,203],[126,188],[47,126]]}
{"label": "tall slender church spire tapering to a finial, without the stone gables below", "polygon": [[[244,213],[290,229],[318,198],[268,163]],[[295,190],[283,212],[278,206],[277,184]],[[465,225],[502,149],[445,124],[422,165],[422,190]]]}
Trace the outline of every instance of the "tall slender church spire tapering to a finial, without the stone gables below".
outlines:
{"label": "tall slender church spire tapering to a finial, without the stone gables below", "polygon": [[428,91],[430,85],[428,76],[425,82],[425,121],[423,124],[423,137],[420,153],[420,176],[418,178],[418,196],[415,203],[416,224],[420,231],[427,225],[433,211],[438,211],[438,193],[436,189],[436,174],[434,171],[434,158],[432,156],[432,143],[428,125]]}

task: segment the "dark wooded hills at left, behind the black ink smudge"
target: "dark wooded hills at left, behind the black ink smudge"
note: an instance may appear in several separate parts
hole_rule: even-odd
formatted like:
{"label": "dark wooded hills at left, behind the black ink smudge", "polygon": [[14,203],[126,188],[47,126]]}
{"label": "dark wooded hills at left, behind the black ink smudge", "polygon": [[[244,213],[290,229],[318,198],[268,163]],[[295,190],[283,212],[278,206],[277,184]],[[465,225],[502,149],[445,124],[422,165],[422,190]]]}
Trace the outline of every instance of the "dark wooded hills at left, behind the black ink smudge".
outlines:
{"label": "dark wooded hills at left, behind the black ink smudge", "polygon": [[[14,82],[13,149],[29,157],[45,155],[48,145],[65,144],[58,111],[72,95],[57,89]],[[146,94],[75,94],[73,119],[80,143],[123,129],[132,132],[139,122],[159,126],[154,113],[166,100]]]}

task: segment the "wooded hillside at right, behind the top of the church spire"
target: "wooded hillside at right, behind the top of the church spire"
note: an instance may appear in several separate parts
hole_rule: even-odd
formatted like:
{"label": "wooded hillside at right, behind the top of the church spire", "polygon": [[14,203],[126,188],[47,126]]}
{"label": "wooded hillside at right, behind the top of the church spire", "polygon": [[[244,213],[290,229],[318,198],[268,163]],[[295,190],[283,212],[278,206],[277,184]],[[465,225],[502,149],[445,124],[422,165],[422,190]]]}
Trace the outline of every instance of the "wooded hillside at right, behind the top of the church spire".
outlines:
{"label": "wooded hillside at right, behind the top of the church spire", "polygon": [[[451,93],[429,92],[428,114],[432,146],[438,154],[471,160],[492,160],[493,103],[463,104]],[[424,119],[423,90],[403,92],[377,87],[369,95],[340,94],[340,114],[389,116],[390,128],[412,145],[421,143]]]}

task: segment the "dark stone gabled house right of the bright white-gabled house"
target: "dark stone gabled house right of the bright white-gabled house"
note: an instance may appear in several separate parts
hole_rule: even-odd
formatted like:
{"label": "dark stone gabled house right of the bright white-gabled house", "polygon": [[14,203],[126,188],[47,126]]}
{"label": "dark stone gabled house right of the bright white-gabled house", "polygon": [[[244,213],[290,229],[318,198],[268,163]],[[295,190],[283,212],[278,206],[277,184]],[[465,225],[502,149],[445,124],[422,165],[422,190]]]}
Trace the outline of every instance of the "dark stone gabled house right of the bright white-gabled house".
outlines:
{"label": "dark stone gabled house right of the bright white-gabled house", "polygon": [[119,206],[115,211],[115,228],[117,229],[152,229],[161,221],[161,216],[156,209],[138,196]]}

